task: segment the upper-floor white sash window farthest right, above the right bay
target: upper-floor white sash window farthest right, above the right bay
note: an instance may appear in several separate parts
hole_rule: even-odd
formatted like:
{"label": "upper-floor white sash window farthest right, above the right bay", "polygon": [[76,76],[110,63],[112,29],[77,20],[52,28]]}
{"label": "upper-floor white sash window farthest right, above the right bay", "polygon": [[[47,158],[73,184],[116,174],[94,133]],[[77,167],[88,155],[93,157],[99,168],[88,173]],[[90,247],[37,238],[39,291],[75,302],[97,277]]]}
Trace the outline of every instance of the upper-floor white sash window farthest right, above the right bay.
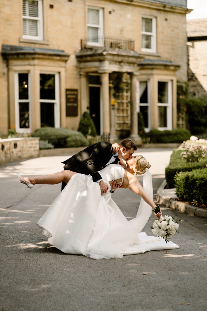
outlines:
{"label": "upper-floor white sash window farthest right, above the right bay", "polygon": [[156,19],[142,17],[142,51],[156,52]]}

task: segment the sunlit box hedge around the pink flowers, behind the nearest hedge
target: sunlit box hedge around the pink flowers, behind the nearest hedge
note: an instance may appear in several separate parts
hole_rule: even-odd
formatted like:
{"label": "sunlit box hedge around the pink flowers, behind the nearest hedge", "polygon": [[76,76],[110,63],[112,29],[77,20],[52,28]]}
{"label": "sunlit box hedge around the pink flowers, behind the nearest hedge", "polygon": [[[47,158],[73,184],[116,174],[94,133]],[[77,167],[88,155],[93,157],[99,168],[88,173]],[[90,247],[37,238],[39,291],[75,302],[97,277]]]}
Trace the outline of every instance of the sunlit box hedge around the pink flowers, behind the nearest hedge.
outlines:
{"label": "sunlit box hedge around the pink flowers, behind the nearest hedge", "polygon": [[165,168],[165,179],[170,188],[175,188],[174,177],[177,173],[205,168],[206,165],[206,159],[201,159],[199,162],[187,162],[185,159],[181,158],[181,152],[182,150],[173,150],[170,163]]}

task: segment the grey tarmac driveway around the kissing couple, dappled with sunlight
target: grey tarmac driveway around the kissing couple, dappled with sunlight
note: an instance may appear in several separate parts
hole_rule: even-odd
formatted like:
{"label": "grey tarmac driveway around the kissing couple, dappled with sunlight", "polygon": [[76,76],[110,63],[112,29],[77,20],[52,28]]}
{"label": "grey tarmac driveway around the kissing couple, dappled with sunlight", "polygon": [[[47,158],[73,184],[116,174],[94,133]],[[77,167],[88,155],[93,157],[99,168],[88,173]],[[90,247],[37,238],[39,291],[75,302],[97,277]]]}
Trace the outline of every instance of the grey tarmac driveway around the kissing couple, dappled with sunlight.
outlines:
{"label": "grey tarmac driveway around the kissing couple, dappled with sunlight", "polygon": [[[172,149],[142,149],[151,163],[153,193],[164,180]],[[0,166],[0,311],[206,311],[207,223],[161,207],[184,221],[172,241],[179,249],[122,259],[93,260],[65,254],[48,244],[36,225],[61,185],[22,190],[22,176],[62,170],[68,156],[47,156]],[[139,177],[142,180],[142,177]],[[23,187],[22,187],[23,186]],[[136,216],[140,197],[117,189],[112,198],[127,217]],[[151,235],[152,215],[143,231]]]}

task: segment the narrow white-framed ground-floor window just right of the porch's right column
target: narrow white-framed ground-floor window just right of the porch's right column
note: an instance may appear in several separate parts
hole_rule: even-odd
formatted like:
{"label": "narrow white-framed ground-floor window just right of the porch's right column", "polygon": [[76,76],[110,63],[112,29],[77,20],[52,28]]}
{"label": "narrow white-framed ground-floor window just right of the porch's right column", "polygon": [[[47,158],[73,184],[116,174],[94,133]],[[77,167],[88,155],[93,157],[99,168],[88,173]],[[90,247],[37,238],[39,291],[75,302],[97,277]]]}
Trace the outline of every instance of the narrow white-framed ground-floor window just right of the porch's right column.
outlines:
{"label": "narrow white-framed ground-floor window just right of the porch's right column", "polygon": [[139,81],[139,111],[144,119],[145,131],[150,130],[150,96],[149,81]]}

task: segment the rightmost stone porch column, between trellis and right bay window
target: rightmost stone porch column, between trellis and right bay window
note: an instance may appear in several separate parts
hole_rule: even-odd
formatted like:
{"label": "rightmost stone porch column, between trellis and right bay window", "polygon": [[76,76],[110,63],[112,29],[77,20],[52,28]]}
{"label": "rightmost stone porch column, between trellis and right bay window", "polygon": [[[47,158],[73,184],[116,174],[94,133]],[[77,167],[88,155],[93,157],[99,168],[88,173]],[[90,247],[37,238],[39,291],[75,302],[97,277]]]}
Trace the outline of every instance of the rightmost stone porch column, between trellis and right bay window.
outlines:
{"label": "rightmost stone porch column, between trellis and right bay window", "polygon": [[142,140],[138,135],[136,84],[137,84],[137,74],[132,73],[132,77],[131,77],[131,135],[129,138],[132,139],[134,143],[136,144],[142,144]]}

